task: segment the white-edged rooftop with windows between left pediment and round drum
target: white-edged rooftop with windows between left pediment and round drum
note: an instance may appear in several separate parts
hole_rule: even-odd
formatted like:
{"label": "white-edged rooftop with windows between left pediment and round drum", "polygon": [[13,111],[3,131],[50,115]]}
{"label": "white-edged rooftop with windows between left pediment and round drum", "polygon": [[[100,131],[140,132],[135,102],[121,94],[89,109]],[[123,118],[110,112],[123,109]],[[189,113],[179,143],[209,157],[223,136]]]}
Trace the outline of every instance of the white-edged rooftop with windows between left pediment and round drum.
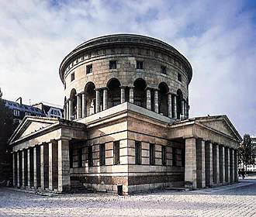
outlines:
{"label": "white-edged rooftop with windows between left pediment and round drum", "polygon": [[51,105],[47,102],[40,102],[33,105],[33,107],[40,108],[41,111],[48,117],[48,118],[64,118],[64,109],[58,107],[57,105]]}

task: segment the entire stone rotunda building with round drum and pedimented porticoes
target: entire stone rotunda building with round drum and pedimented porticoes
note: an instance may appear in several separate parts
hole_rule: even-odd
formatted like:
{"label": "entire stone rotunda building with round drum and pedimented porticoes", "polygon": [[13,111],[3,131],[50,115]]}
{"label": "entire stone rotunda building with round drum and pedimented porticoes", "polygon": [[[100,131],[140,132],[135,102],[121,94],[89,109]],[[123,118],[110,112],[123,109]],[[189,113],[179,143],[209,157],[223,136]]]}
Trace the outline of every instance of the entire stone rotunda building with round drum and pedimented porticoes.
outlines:
{"label": "entire stone rotunda building with round drum and pedimented porticoes", "polygon": [[14,186],[130,194],[237,181],[239,133],[226,115],[189,119],[192,67],[168,44],[102,36],[60,76],[65,119],[26,117],[10,139]]}

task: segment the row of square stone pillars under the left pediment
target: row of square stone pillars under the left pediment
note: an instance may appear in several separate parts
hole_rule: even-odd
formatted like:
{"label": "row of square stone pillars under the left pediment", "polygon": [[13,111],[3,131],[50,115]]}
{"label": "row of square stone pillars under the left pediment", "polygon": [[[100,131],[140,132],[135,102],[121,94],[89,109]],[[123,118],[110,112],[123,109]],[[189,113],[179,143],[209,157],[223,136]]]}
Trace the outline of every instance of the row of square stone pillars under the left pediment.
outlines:
{"label": "row of square stone pillars under the left pediment", "polygon": [[70,191],[68,140],[51,140],[12,153],[13,186]]}

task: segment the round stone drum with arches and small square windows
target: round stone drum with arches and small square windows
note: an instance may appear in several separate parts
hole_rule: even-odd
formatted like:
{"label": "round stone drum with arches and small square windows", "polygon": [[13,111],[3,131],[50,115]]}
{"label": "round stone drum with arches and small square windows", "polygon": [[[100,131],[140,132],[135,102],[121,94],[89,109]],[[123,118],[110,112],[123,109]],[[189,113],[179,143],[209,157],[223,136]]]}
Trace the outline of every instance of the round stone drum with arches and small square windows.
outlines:
{"label": "round stone drum with arches and small square windows", "polygon": [[119,34],[76,47],[60,67],[65,117],[81,119],[123,102],[170,119],[189,118],[189,61],[161,40]]}

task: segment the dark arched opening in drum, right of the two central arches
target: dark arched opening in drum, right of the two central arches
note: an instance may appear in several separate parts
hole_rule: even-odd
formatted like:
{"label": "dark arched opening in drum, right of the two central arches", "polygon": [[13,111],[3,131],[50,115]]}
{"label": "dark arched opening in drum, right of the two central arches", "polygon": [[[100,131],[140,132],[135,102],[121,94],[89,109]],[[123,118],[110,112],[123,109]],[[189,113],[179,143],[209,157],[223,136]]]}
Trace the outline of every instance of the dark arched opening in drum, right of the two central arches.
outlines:
{"label": "dark arched opening in drum, right of the two central arches", "polygon": [[134,81],[134,104],[146,108],[147,106],[147,93],[146,93],[146,81],[142,78],[138,78]]}

